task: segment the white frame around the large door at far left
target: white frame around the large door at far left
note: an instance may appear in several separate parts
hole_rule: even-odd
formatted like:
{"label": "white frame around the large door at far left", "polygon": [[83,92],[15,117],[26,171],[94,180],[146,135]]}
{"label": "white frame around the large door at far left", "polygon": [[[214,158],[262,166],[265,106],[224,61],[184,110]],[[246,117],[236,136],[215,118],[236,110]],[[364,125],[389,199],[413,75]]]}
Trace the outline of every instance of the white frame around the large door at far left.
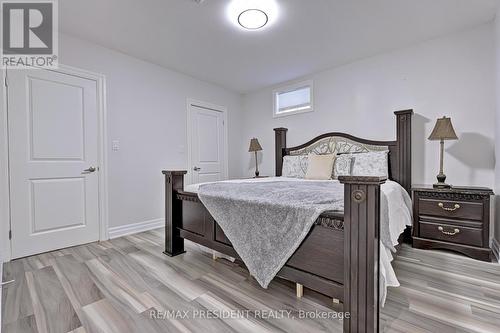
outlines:
{"label": "white frame around the large door at far left", "polygon": [[[15,69],[14,69],[15,70]],[[91,71],[59,65],[57,69],[44,69],[61,74],[79,76],[92,80],[97,85],[97,108],[99,114],[98,157],[99,157],[99,241],[109,239],[108,235],[108,147],[107,147],[107,103],[106,76]],[[9,239],[11,230],[10,216],[10,172],[9,172],[9,126],[8,126],[8,72],[2,70],[2,94],[0,94],[0,262],[12,259],[12,243]]]}

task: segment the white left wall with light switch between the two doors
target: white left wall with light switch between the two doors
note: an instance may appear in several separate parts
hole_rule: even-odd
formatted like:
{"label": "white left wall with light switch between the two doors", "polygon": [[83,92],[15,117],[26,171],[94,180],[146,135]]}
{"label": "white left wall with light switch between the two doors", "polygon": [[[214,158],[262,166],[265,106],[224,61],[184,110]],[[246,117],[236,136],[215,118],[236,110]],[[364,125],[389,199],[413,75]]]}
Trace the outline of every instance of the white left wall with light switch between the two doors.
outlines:
{"label": "white left wall with light switch between the two doors", "polygon": [[60,63],[106,75],[110,227],[164,216],[161,171],[187,167],[187,98],[228,108],[229,174],[240,176],[240,94],[66,35],[59,49]]}

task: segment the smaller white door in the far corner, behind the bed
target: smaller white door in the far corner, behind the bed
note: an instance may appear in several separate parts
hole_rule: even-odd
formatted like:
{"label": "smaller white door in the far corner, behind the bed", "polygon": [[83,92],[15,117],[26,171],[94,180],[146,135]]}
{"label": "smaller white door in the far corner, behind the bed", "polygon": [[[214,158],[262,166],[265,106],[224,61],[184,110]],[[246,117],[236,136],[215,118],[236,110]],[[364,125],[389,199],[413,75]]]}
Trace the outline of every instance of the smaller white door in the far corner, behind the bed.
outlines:
{"label": "smaller white door in the far corner, behind the bed", "polygon": [[190,104],[191,180],[194,184],[225,178],[224,112]]}

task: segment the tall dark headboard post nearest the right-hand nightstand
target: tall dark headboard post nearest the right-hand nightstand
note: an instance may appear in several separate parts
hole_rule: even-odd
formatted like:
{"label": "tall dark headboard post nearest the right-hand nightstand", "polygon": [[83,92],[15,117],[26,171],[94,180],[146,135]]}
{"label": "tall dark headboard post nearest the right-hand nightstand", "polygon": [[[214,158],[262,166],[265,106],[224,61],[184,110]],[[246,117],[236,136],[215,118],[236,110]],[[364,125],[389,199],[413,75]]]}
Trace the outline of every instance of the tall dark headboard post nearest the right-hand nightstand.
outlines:
{"label": "tall dark headboard post nearest the right-hand nightstand", "polygon": [[408,192],[411,190],[411,118],[413,110],[394,112],[396,115],[396,135],[398,152],[398,175],[392,178],[399,182]]}

